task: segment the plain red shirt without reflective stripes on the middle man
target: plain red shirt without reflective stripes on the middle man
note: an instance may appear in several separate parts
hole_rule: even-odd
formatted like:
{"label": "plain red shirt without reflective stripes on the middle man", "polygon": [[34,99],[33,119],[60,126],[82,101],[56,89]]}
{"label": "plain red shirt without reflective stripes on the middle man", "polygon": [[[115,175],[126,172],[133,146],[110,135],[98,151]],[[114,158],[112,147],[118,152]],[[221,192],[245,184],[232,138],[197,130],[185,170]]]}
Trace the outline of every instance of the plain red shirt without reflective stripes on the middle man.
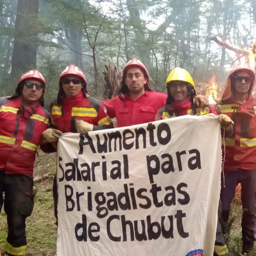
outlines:
{"label": "plain red shirt without reflective stripes on the middle man", "polygon": [[136,101],[130,96],[118,96],[109,101],[103,101],[111,118],[116,117],[117,126],[131,126],[134,124],[148,123],[155,121],[156,112],[165,105],[167,94],[155,91],[145,91]]}

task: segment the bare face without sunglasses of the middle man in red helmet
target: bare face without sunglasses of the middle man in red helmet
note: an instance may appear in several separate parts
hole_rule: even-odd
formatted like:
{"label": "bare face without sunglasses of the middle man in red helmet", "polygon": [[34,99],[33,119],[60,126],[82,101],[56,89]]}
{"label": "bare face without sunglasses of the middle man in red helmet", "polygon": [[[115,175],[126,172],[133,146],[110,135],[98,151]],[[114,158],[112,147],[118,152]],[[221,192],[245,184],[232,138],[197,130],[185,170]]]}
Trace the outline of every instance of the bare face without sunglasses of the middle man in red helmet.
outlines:
{"label": "bare face without sunglasses of the middle man in red helmet", "polygon": [[130,94],[144,94],[144,84],[146,84],[146,79],[141,69],[128,69],[124,81],[130,91]]}

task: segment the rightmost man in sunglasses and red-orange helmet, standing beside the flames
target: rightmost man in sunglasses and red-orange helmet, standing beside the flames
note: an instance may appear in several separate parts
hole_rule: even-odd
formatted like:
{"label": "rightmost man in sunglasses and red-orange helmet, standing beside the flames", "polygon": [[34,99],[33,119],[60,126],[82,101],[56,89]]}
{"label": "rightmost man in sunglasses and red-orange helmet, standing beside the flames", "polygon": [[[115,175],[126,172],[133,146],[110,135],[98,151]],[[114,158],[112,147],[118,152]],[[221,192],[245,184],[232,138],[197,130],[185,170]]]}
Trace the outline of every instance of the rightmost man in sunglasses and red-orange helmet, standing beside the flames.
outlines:
{"label": "rightmost man in sunglasses and red-orange helmet, standing beside the flames", "polygon": [[228,76],[218,113],[228,115],[234,125],[222,130],[224,175],[220,198],[222,219],[228,221],[235,188],[241,183],[242,194],[242,254],[254,251],[256,238],[256,101],[252,97],[255,74],[239,66]]}

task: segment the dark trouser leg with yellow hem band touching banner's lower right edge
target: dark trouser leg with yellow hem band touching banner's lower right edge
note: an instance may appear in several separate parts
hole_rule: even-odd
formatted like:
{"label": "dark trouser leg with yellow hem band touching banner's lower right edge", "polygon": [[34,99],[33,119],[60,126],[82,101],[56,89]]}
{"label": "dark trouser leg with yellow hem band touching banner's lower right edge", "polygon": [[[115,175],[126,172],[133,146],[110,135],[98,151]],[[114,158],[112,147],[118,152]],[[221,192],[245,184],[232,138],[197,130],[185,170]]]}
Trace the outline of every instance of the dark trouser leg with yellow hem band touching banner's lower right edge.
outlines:
{"label": "dark trouser leg with yellow hem band touching banner's lower right edge", "polygon": [[230,254],[228,252],[228,248],[224,240],[224,235],[222,233],[222,226],[220,225],[221,212],[222,212],[222,204],[219,199],[218,221],[217,221],[216,238],[215,238],[215,244],[214,244],[214,255],[228,256]]}

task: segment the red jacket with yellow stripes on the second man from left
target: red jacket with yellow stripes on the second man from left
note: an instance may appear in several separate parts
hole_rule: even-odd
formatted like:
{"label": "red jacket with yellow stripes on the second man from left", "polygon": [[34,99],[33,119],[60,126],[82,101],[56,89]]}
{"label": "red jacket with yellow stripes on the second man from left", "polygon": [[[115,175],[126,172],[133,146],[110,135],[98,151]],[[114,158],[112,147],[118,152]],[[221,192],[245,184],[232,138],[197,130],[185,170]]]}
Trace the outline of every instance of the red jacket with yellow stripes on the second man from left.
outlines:
{"label": "red jacket with yellow stripes on the second man from left", "polygon": [[113,124],[107,114],[107,110],[101,106],[101,102],[93,97],[84,98],[82,92],[79,92],[73,98],[63,97],[63,106],[52,104],[51,114],[53,124],[62,132],[76,132],[75,123],[72,119],[82,119],[95,126],[112,128]]}

